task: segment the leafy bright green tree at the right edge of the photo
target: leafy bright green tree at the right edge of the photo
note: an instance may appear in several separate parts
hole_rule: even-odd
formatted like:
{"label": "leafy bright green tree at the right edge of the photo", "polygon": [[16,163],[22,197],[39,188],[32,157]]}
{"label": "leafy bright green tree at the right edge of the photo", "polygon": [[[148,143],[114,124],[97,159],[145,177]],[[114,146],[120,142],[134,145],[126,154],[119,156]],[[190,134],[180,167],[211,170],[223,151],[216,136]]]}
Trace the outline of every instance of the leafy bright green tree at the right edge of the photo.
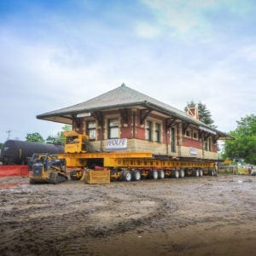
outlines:
{"label": "leafy bright green tree at the right edge of the photo", "polygon": [[235,131],[230,135],[235,140],[225,142],[224,157],[233,160],[245,160],[249,164],[256,164],[256,116],[247,115],[236,121]]}

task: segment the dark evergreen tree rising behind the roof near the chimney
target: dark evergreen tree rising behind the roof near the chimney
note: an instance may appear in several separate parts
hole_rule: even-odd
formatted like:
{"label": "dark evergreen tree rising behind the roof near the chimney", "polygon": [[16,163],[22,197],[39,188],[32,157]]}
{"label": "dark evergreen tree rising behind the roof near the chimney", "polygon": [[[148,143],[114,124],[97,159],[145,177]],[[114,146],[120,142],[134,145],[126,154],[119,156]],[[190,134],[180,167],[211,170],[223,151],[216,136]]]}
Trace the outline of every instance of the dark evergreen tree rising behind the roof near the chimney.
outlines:
{"label": "dark evergreen tree rising behind the roof near the chimney", "polygon": [[198,109],[198,116],[199,120],[206,124],[211,126],[212,128],[216,128],[217,126],[214,125],[214,121],[212,119],[211,112],[207,109],[207,105],[203,104],[202,102],[195,103],[194,101],[188,102],[187,106],[184,108],[184,110],[187,112],[188,108],[197,108]]}

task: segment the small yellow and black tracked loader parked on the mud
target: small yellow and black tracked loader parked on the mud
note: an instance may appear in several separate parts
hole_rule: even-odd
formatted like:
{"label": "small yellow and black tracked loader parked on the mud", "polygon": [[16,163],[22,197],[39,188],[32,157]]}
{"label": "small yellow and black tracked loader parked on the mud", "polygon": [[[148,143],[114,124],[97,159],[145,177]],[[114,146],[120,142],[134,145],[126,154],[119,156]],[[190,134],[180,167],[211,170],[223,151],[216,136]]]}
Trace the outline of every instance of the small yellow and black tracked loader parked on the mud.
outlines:
{"label": "small yellow and black tracked loader parked on the mud", "polygon": [[33,154],[28,164],[29,181],[34,183],[62,183],[67,181],[66,160],[57,154]]}

